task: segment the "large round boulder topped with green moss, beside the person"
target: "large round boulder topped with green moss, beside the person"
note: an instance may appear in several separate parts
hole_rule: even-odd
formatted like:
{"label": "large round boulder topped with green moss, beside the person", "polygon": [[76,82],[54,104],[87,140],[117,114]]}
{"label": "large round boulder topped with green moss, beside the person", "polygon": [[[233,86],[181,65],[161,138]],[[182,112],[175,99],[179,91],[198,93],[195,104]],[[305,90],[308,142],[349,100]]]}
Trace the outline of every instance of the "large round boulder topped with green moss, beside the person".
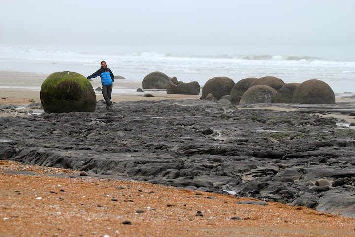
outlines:
{"label": "large round boulder topped with green moss, beside the person", "polygon": [[42,84],[40,99],[47,113],[94,112],[96,96],[90,81],[74,72],[56,72]]}

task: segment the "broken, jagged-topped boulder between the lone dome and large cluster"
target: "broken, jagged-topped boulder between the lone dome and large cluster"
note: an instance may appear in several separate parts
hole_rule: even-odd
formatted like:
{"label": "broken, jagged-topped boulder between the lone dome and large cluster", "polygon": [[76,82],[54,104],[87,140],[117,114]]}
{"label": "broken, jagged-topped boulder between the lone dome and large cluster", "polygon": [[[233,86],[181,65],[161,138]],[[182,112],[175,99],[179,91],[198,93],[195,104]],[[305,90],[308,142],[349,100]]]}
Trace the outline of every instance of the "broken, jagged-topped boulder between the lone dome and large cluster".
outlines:
{"label": "broken, jagged-topped boulder between the lone dome and large cluster", "polygon": [[167,83],[167,94],[199,95],[200,84],[197,81],[184,83],[173,77]]}

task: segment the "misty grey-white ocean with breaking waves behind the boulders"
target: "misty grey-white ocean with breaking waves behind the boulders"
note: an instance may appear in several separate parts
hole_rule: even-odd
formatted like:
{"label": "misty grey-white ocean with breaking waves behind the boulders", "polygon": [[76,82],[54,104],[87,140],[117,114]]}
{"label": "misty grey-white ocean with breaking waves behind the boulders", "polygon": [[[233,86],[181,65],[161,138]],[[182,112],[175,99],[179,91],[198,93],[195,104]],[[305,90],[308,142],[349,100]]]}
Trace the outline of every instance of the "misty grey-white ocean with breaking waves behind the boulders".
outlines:
{"label": "misty grey-white ocean with breaking waves behind the boulders", "polygon": [[[291,49],[291,50],[290,50]],[[0,70],[89,76],[106,61],[114,75],[142,81],[160,71],[203,86],[217,76],[234,82],[275,76],[284,83],[318,79],[335,93],[355,92],[355,47],[255,46],[0,46]]]}

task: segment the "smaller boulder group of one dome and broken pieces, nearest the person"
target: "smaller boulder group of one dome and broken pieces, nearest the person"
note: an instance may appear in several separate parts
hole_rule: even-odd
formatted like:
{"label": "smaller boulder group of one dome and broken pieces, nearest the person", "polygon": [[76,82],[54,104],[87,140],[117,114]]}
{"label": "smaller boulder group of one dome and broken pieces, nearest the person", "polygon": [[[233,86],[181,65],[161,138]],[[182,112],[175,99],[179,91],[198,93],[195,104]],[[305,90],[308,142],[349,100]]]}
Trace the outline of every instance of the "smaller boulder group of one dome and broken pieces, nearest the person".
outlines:
{"label": "smaller boulder group of one dome and broken pieces, nearest the person", "polygon": [[176,77],[170,78],[162,72],[149,73],[143,79],[143,89],[166,90],[167,94],[199,95],[200,84],[197,81],[184,83]]}

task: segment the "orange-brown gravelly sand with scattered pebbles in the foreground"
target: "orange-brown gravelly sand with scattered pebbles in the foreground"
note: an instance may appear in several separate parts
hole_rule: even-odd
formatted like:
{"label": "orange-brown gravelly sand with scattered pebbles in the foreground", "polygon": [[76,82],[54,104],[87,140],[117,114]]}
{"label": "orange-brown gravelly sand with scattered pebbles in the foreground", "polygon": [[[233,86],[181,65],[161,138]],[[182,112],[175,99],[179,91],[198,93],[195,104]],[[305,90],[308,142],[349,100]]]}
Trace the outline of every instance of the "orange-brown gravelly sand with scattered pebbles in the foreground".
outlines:
{"label": "orange-brown gravelly sand with scattered pebbles in the foreground", "polygon": [[[18,170],[38,175],[11,173]],[[236,204],[246,200],[254,199],[0,160],[0,237],[355,236],[352,218],[271,202]]]}

